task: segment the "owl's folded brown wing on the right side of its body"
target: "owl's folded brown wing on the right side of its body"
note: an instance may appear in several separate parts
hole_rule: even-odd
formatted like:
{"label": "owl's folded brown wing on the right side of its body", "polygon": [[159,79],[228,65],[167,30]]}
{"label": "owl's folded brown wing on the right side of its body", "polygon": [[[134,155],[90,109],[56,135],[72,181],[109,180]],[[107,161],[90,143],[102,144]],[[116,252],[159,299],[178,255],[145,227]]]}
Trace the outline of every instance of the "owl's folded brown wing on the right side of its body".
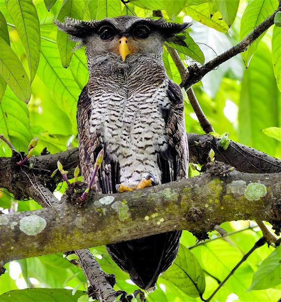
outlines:
{"label": "owl's folded brown wing on the right side of its body", "polygon": [[162,183],[187,177],[188,142],[184,122],[184,104],[181,90],[177,84],[168,81],[167,95],[170,108],[163,109],[168,136],[168,148],[160,153],[158,164],[162,171]]}

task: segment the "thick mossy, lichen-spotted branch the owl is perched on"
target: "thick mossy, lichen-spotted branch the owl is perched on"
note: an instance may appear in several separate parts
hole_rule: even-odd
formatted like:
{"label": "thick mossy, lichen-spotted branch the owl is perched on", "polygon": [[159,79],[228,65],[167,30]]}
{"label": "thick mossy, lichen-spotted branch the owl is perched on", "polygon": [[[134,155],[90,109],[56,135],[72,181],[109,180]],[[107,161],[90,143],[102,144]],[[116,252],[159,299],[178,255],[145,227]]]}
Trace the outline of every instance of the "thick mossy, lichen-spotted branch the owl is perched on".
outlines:
{"label": "thick mossy, lichen-spotted branch the owl is perched on", "polygon": [[[280,174],[234,171],[220,179],[212,175],[221,174],[224,168],[213,167],[212,174],[206,172],[144,190],[110,197],[92,192],[87,196],[89,203],[85,209],[69,204],[76,203],[85,185],[77,185],[76,189],[71,186],[55,207],[1,215],[2,261],[105,245],[171,230],[207,232],[214,230],[216,224],[239,219],[266,220],[279,230]],[[26,217],[30,217],[31,222]],[[30,235],[27,230],[38,234]]]}

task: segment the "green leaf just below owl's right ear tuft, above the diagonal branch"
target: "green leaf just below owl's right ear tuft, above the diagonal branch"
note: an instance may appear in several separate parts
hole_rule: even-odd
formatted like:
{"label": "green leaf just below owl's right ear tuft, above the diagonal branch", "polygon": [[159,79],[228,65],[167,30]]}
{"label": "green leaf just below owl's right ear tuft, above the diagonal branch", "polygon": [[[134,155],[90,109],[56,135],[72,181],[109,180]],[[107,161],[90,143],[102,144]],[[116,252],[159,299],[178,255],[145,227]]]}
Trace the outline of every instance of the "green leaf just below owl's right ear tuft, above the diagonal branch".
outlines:
{"label": "green leaf just below owl's right ear tuft, above the diagonal branch", "polygon": [[184,42],[186,43],[187,47],[176,44],[176,43],[167,43],[172,48],[178,50],[185,55],[188,55],[195,61],[199,62],[200,64],[204,64],[205,57],[203,52],[201,51],[200,47],[194,42],[194,40],[190,37],[189,33],[185,33]]}

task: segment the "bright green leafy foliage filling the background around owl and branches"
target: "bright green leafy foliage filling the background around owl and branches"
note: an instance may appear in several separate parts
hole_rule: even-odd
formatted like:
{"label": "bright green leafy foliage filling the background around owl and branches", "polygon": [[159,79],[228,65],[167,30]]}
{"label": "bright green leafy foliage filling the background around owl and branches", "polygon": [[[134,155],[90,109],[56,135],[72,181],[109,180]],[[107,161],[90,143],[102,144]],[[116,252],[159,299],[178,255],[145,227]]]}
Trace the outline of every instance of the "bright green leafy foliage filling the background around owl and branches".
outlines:
{"label": "bright green leafy foliage filling the background around owl and branches", "polygon": [[[35,136],[39,138],[37,154],[44,147],[56,153],[78,145],[76,104],[87,83],[86,58],[84,49],[72,51],[75,43],[57,31],[54,19],[152,17],[152,10],[161,9],[166,19],[193,22],[186,33],[188,48],[170,44],[187,66],[203,64],[235,45],[277,6],[277,0],[131,0],[126,6],[119,0],[0,0],[0,132],[24,152]],[[280,27],[270,28],[242,55],[209,72],[193,87],[216,132],[229,132],[231,139],[279,158],[280,37]],[[163,59],[167,74],[179,84],[180,75],[166,48]],[[186,129],[200,133],[184,95]],[[0,156],[11,156],[3,142]],[[56,196],[63,190],[64,186],[59,186]],[[0,197],[6,213],[40,208],[33,200],[16,201],[6,191],[0,191]],[[207,298],[261,236],[250,221],[222,226],[234,234],[220,239],[212,232],[211,240],[198,246],[194,246],[195,237],[183,233],[179,256],[159,278],[158,290],[149,294],[148,301],[197,301],[202,294]],[[134,291],[128,275],[113,263],[104,247],[92,251],[102,269],[116,275],[116,290]],[[280,295],[280,249],[272,251],[266,245],[257,249],[213,300],[276,301]],[[30,301],[52,301],[53,297],[59,301],[88,300],[82,291],[87,287],[82,271],[61,254],[14,261],[6,268],[0,278],[0,293],[38,289],[4,294],[2,302],[25,301],[27,296]]]}

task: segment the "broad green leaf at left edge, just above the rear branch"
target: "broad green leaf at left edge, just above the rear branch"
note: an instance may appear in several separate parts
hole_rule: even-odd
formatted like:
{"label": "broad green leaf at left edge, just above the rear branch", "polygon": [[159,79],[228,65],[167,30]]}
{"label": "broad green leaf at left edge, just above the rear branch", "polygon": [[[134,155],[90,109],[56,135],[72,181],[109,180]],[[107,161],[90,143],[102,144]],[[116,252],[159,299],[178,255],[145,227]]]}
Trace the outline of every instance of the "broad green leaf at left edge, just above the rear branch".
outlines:
{"label": "broad green leaf at left edge, just above the rear branch", "polygon": [[[10,88],[7,88],[0,102],[0,129],[18,151],[27,151],[32,139],[29,112],[26,104],[16,98]],[[6,148],[6,145],[3,144],[3,148]]]}

